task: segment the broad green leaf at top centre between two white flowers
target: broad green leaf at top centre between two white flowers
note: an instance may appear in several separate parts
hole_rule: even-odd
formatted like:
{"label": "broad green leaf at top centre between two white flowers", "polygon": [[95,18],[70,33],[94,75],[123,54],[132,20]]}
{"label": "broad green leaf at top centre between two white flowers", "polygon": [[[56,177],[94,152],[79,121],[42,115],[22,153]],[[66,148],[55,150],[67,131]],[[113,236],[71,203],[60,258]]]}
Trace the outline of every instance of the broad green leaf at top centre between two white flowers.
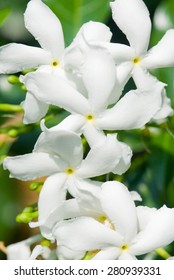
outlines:
{"label": "broad green leaf at top centre between two white flowers", "polygon": [[105,22],[110,13],[109,2],[109,0],[45,1],[61,21],[67,44],[71,43],[83,23],[89,20]]}

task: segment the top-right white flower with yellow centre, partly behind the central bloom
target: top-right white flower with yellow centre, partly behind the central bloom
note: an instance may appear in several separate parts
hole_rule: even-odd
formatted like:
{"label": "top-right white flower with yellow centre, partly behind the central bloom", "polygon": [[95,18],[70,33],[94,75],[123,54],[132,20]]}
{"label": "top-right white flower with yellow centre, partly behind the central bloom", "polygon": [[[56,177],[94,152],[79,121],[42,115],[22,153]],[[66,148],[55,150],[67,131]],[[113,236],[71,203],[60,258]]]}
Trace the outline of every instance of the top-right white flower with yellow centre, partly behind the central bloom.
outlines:
{"label": "top-right white flower with yellow centre, partly behind the central bloom", "polygon": [[[174,29],[166,32],[161,41],[148,49],[151,21],[149,12],[142,0],[115,0],[111,2],[115,23],[126,35],[130,46],[117,43],[101,43],[111,52],[117,64],[118,80],[126,83],[132,76],[136,86],[141,90],[151,87],[150,69],[174,65]],[[157,79],[153,77],[153,83]],[[162,119],[172,114],[172,108],[165,90],[163,94],[162,112],[155,119]]]}

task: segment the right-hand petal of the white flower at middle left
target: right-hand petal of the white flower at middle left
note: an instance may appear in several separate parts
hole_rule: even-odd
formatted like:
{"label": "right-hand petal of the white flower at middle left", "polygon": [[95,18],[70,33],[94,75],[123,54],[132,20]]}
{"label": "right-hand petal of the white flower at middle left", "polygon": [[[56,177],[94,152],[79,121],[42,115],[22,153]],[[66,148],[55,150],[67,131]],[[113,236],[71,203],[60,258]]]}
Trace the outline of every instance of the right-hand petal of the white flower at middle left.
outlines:
{"label": "right-hand petal of the white flower at middle left", "polygon": [[108,134],[104,141],[91,148],[77,171],[77,175],[80,178],[90,178],[107,174],[112,172],[120,158],[120,143],[115,135]]}

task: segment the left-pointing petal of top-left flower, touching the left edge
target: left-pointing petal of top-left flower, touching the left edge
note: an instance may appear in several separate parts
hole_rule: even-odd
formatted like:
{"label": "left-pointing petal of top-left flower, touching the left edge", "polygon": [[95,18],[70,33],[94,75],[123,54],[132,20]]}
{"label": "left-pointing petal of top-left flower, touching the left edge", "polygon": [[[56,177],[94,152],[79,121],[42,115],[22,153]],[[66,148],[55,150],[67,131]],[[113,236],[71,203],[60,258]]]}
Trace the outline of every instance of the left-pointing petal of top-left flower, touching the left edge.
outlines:
{"label": "left-pointing petal of top-left flower, touching the left edge", "polygon": [[0,73],[10,74],[50,63],[50,54],[37,47],[8,44],[0,48]]}

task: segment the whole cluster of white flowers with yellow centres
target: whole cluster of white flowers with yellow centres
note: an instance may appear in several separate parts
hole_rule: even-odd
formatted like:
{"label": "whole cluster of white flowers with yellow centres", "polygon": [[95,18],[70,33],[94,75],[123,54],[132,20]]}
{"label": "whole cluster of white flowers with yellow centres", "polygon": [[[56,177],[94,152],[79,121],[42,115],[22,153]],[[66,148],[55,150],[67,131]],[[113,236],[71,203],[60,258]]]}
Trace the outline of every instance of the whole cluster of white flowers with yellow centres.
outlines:
{"label": "whole cluster of white flowers with yellow centres", "polygon": [[[41,48],[16,43],[0,48],[1,73],[35,69],[20,76],[27,89],[23,122],[42,119],[32,153],[5,158],[4,168],[24,181],[46,176],[38,221],[29,225],[39,226],[42,236],[55,243],[46,252],[37,245],[31,255],[29,246],[40,237],[30,238],[7,247],[9,258],[136,259],[174,240],[174,209],[136,207],[138,193],[117,181],[96,180],[130,167],[131,148],[116,132],[173,113],[166,85],[148,70],[174,65],[174,30],[147,51],[151,21],[144,2],[115,0],[110,6],[130,46],[112,43],[109,28],[90,21],[65,48],[58,18],[41,0],[30,0],[25,26]],[[131,77],[137,88],[123,94]],[[49,105],[68,112],[51,128],[43,120]],[[89,146],[85,156],[84,139]]]}

